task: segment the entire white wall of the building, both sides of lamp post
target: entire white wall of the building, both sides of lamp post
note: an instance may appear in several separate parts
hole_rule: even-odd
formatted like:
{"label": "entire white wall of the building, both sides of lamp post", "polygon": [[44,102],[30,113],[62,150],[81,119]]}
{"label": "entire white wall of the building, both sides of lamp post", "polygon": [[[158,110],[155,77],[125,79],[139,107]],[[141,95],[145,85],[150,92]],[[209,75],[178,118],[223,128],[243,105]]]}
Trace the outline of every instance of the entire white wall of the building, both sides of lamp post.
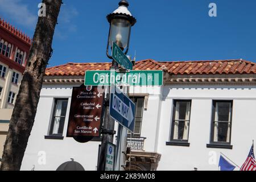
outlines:
{"label": "entire white wall of the building, both sides of lamp post", "polygon": [[[57,88],[56,88],[57,87]],[[141,137],[146,137],[144,149],[162,155],[158,170],[217,170],[220,152],[241,166],[249,153],[252,139],[256,139],[256,88],[255,86],[163,86],[152,88],[130,88],[130,93],[149,94],[147,110],[143,111]],[[86,170],[97,166],[100,142],[77,143],[66,138],[71,86],[46,86],[41,92],[22,170],[55,170],[60,164],[74,158]],[[53,98],[69,98],[64,125],[64,140],[44,139],[47,135]],[[170,138],[172,102],[174,99],[190,99],[191,123],[189,147],[167,146]],[[210,140],[212,100],[233,100],[233,123],[231,144],[233,149],[207,148]],[[117,131],[117,125],[115,125]],[[46,152],[46,165],[38,164],[38,152]],[[212,153],[213,152],[213,153]],[[215,164],[210,165],[210,155]],[[212,158],[211,158],[212,159]]]}

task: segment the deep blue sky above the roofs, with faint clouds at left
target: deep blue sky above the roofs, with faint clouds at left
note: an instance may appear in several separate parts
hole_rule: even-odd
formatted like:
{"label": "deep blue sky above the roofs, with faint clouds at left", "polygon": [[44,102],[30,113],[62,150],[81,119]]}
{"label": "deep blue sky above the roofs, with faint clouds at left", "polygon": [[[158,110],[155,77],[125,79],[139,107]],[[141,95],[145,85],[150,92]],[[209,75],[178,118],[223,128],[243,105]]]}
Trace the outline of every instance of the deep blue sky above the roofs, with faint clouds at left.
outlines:
{"label": "deep blue sky above the roofs, with faint clouds at left", "polygon": [[[0,17],[33,36],[40,0],[0,0]],[[119,0],[63,0],[49,66],[105,62],[109,23],[106,15]],[[208,15],[216,3],[217,17]],[[129,55],[137,60],[256,61],[255,0],[130,0],[137,18]]]}

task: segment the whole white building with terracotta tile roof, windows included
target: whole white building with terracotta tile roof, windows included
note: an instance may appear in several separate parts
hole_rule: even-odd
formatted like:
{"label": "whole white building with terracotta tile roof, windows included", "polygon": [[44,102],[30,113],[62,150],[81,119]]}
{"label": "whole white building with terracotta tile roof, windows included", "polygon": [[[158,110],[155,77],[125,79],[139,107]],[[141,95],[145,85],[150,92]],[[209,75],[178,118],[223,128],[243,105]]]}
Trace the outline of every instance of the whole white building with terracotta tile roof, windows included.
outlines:
{"label": "whole white building with terracotta tile roof, windows included", "polygon": [[[110,65],[47,69],[22,170],[56,170],[70,158],[85,170],[96,169],[100,142],[78,143],[65,134],[72,87],[83,84],[86,70],[109,70]],[[137,104],[135,134],[127,139],[131,169],[218,170],[220,152],[242,166],[256,138],[255,63],[143,60],[134,69],[163,69],[164,85],[130,87]]]}

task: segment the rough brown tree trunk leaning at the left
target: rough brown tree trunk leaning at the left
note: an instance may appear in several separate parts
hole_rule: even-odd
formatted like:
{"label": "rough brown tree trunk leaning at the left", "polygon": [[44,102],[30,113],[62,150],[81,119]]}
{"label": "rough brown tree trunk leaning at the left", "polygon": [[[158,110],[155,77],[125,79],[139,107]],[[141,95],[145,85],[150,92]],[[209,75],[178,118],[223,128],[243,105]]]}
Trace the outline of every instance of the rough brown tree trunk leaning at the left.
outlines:
{"label": "rough brown tree trunk leaning at the left", "polygon": [[52,39],[61,0],[43,0],[46,16],[38,18],[3,150],[1,170],[18,171],[22,164],[38,106],[44,72],[51,57]]}

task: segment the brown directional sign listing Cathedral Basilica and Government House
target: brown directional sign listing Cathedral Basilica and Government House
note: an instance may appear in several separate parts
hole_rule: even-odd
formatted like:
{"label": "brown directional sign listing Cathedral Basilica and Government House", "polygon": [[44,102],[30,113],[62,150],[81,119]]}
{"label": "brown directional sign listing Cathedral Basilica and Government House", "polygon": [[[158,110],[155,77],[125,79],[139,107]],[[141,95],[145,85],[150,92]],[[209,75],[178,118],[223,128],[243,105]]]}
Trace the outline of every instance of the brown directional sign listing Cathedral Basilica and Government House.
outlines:
{"label": "brown directional sign listing Cathedral Basilica and Government House", "polygon": [[97,86],[74,87],[67,137],[100,137],[103,104]]}

